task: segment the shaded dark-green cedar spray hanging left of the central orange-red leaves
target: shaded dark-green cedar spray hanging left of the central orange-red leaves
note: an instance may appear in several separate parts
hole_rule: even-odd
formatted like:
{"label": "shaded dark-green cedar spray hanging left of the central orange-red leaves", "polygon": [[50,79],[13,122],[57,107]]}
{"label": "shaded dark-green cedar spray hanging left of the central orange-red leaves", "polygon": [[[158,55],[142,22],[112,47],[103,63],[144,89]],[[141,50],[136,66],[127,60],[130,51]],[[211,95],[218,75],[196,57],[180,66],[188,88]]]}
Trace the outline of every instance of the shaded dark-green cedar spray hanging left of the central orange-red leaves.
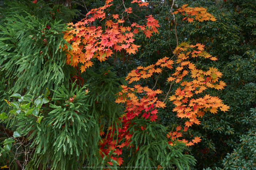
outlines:
{"label": "shaded dark-green cedar spray hanging left of the central orange-red leaves", "polygon": [[[84,78],[89,84],[90,97],[88,104],[89,112],[96,120],[99,120],[103,128],[114,125],[117,129],[120,114],[123,112],[116,102],[116,93],[121,90],[120,84],[123,79],[116,77],[116,72],[100,69],[97,72],[87,70]],[[105,122],[105,120],[108,120]]]}

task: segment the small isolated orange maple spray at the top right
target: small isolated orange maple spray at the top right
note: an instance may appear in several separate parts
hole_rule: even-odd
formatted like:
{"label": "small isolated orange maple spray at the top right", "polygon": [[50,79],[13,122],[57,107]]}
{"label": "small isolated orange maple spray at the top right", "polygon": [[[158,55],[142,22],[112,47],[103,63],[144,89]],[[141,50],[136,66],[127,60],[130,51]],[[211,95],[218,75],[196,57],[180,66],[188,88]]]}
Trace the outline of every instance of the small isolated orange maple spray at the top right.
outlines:
{"label": "small isolated orange maple spray at the top right", "polygon": [[186,17],[183,18],[183,20],[188,20],[188,22],[193,22],[193,20],[198,20],[198,21],[206,21],[206,20],[212,20],[216,21],[216,18],[211,15],[210,13],[207,12],[206,8],[203,7],[196,7],[196,8],[191,8],[187,7],[188,5],[182,5],[181,8],[179,8],[177,11],[173,12],[173,14],[178,14],[179,12],[182,15],[185,15]]}

